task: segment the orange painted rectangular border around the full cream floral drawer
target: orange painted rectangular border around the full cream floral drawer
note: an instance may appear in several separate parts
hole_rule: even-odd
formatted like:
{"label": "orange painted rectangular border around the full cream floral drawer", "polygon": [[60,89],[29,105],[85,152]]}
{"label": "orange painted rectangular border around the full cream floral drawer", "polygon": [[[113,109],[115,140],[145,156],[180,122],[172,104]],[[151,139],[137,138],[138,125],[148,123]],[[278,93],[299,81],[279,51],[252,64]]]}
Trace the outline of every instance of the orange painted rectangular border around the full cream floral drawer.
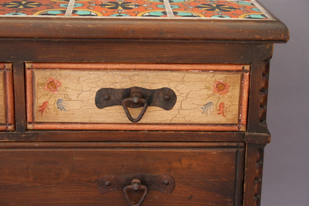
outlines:
{"label": "orange painted rectangular border around the full cream floral drawer", "polygon": [[34,123],[32,69],[128,69],[250,71],[250,64],[169,64],[169,63],[40,63],[26,62],[26,110],[29,130],[163,130],[163,131],[246,131],[250,73],[243,73],[239,124],[100,124]]}

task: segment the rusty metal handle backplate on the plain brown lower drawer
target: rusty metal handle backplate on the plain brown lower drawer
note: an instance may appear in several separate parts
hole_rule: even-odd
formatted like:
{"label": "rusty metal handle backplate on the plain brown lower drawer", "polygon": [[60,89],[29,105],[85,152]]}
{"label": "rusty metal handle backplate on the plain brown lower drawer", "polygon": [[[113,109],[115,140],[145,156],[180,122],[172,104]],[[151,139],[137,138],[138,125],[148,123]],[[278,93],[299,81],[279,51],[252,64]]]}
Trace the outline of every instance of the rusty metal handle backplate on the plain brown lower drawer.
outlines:
{"label": "rusty metal handle backplate on the plain brown lower drawer", "polygon": [[170,194],[175,188],[175,180],[167,174],[129,174],[125,176],[120,175],[105,175],[101,177],[98,182],[98,191],[102,194],[123,190],[124,187],[131,184],[133,179],[139,179],[141,184],[148,187],[148,190],[155,190],[164,194]]}

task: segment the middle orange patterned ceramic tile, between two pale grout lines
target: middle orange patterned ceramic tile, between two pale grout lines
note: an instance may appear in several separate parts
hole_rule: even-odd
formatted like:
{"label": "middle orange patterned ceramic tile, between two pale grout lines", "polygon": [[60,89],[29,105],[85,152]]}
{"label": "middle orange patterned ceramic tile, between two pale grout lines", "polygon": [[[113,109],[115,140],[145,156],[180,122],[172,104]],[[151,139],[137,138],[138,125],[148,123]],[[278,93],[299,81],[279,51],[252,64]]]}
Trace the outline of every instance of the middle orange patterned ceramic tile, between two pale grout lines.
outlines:
{"label": "middle orange patterned ceramic tile, between two pale grout lines", "polygon": [[75,1],[72,15],[166,17],[164,2],[146,0]]}

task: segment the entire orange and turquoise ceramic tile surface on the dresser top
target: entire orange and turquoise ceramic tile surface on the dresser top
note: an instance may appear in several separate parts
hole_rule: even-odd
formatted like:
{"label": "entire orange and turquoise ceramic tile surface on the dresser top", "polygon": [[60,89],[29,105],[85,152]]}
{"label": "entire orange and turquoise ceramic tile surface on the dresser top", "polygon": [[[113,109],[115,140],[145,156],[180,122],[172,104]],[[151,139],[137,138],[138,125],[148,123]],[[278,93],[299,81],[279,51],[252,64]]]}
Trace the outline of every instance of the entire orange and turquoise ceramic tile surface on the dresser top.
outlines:
{"label": "entire orange and turquoise ceramic tile surface on the dresser top", "polygon": [[255,0],[0,0],[0,15],[271,19]]}

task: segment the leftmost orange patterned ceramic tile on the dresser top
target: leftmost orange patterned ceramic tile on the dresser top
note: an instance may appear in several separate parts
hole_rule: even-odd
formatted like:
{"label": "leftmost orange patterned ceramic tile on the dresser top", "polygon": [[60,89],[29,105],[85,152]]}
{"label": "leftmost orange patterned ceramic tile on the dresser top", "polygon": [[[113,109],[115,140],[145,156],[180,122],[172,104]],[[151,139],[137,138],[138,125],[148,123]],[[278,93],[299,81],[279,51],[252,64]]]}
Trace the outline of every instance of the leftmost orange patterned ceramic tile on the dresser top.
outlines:
{"label": "leftmost orange patterned ceramic tile on the dresser top", "polygon": [[0,0],[0,15],[65,15],[69,0]]}

